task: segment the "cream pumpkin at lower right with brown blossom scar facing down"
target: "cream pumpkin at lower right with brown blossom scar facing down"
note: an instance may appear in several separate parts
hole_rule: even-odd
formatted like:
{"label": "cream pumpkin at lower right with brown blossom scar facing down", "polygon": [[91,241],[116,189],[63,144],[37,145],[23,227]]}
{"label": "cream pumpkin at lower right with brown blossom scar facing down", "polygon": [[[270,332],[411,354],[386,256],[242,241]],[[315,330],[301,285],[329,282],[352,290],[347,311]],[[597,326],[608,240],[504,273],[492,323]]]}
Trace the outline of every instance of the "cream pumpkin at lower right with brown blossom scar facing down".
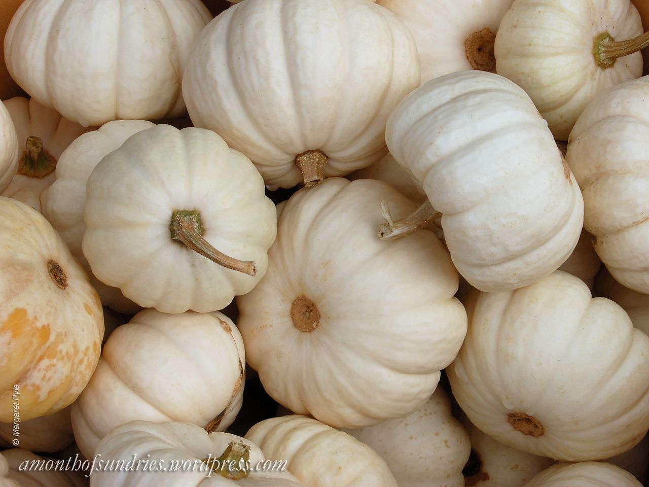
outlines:
{"label": "cream pumpkin at lower right with brown blossom scar facing down", "polygon": [[598,460],[649,429],[649,337],[609,299],[556,271],[526,288],[472,293],[469,332],[447,368],[471,422],[557,460]]}

